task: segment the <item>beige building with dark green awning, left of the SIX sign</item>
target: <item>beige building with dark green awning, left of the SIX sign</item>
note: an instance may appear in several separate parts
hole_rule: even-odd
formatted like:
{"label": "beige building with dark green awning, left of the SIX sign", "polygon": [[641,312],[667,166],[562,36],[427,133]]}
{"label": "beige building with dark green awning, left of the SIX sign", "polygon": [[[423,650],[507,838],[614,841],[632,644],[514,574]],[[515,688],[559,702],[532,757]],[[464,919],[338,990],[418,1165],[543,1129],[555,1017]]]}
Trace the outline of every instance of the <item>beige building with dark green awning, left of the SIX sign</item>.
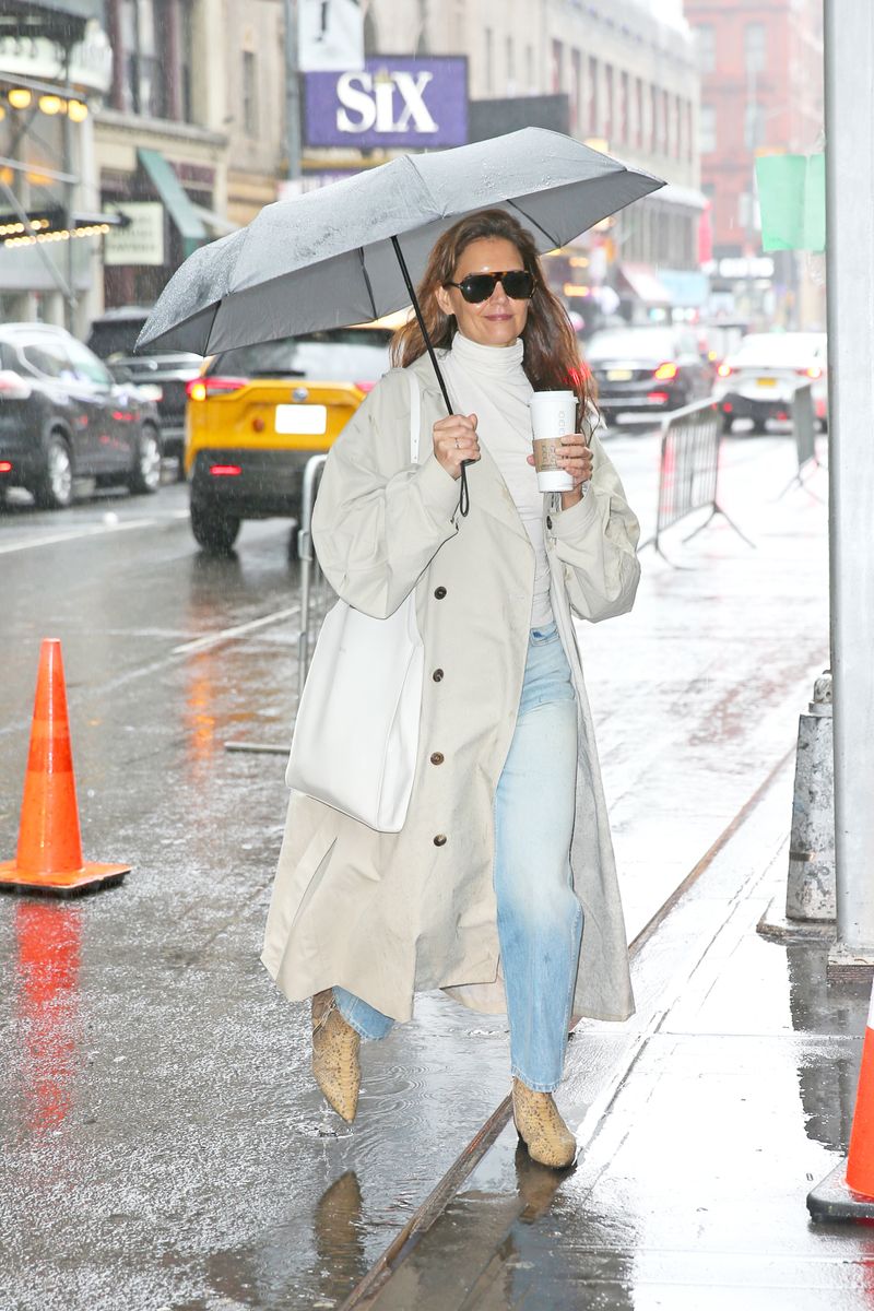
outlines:
{"label": "beige building with dark green awning, left of the SIX sign", "polygon": [[113,83],[96,118],[107,307],[151,304],[190,252],[248,223],[282,176],[276,0],[107,0]]}

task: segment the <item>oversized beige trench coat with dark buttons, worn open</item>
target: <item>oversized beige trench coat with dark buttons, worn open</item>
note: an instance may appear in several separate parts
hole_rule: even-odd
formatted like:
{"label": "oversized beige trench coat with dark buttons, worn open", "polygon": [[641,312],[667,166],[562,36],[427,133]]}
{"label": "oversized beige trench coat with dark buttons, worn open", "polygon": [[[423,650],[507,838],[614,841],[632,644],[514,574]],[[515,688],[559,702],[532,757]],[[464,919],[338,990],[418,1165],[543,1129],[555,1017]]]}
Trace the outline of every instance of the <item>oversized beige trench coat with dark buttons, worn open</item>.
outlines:
{"label": "oversized beige trench coat with dark buttons, worn open", "polygon": [[[431,439],[446,406],[427,357],[411,368],[422,463],[409,463],[409,383],[396,368],[334,443],[313,515],[321,566],[351,606],[383,617],[415,587],[426,674],[406,823],[373,832],[292,793],[262,956],[291,1000],[338,985],[396,1020],[410,1017],[414,992],[435,987],[480,1011],[506,1009],[493,802],[522,694],[535,577],[531,541],[485,447],[468,468],[470,513],[456,514],[459,484]],[[570,510],[549,510],[545,531],[579,708],[571,869],[586,918],[574,1013],[624,1020],[633,1011],[625,926],[571,612],[600,620],[632,607],[638,524],[598,439],[592,450],[588,493]]]}

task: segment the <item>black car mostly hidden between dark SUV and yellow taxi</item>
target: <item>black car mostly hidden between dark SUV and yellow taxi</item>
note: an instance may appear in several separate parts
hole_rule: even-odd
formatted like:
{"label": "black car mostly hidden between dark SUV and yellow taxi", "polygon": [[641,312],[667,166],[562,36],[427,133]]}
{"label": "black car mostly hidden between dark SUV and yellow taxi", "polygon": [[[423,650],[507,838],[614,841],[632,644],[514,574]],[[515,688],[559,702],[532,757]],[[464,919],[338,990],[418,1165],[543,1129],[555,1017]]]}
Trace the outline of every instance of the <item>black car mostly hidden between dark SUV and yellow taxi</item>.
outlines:
{"label": "black car mostly hidden between dark SUV and yellow taxi", "polygon": [[[164,454],[177,459],[182,477],[185,388],[199,375],[203,357],[161,347],[151,351],[147,349],[144,354],[135,355],[134,346],[149,312],[143,305],[107,309],[90,325],[88,345],[105,361],[117,382],[127,380],[147,388],[145,395],[151,395],[157,404]],[[149,392],[149,388],[155,391]]]}

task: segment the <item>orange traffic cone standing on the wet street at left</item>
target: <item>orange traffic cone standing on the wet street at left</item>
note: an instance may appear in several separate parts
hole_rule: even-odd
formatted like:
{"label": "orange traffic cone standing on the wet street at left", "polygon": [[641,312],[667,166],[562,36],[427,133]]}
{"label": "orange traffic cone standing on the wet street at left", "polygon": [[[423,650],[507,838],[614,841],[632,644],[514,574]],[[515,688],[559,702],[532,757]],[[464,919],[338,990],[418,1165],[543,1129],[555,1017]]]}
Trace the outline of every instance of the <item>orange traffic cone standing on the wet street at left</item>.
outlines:
{"label": "orange traffic cone standing on the wet street at left", "polygon": [[130,868],[83,860],[60,641],[46,637],[39,652],[18,850],[14,860],[0,864],[0,890],[63,897],[119,884]]}

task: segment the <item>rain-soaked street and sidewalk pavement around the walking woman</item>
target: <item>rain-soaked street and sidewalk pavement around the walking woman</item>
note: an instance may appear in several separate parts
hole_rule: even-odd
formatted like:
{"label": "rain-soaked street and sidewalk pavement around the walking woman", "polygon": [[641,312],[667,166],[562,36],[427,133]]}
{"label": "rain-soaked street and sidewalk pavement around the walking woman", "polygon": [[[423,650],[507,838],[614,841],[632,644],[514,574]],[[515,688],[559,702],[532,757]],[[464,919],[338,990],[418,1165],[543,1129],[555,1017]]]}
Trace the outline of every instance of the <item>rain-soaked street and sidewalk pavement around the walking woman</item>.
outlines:
{"label": "rain-soaked street and sidewalk pavement around the walking woman", "polygon": [[[656,439],[608,450],[646,538]],[[258,962],[284,760],[225,747],[290,738],[288,524],[208,558],[178,484],[0,510],[0,859],[54,636],[85,856],[132,867],[80,899],[0,899],[3,1311],[874,1304],[866,1231],[805,1210],[845,1147],[867,992],[755,932],[828,663],[827,477],[785,492],[793,475],[788,438],[729,439],[722,501],[753,545],[719,517],[684,543],[692,519],[674,564],[643,552],[634,612],[579,632],[638,1013],[574,1036],[569,1176],[532,1167],[506,1117],[466,1152],[508,1091],[502,1017],[421,998],[364,1051],[338,1127],[305,1008]],[[354,1294],[411,1221],[405,1260]]]}

